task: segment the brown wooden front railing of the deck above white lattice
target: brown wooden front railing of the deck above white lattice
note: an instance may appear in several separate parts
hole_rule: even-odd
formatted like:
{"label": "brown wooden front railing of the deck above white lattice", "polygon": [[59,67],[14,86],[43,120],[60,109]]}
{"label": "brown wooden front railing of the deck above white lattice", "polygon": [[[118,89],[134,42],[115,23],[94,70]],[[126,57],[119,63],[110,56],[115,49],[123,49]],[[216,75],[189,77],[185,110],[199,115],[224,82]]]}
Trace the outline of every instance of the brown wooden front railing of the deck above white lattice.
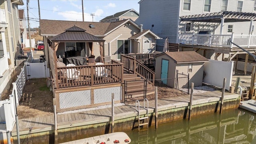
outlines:
{"label": "brown wooden front railing of the deck above white lattice", "polygon": [[121,63],[59,67],[57,72],[59,88],[123,82],[123,64]]}

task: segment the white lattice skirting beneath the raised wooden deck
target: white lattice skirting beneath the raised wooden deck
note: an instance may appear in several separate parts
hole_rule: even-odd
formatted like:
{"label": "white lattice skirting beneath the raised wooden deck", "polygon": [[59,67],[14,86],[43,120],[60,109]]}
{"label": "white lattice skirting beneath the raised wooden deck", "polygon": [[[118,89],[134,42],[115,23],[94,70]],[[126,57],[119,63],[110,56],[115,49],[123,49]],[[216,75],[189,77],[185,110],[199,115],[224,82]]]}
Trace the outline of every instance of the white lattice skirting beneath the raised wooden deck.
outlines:
{"label": "white lattice skirting beneath the raised wooden deck", "polygon": [[[122,100],[122,87],[100,88],[94,90],[94,104],[111,102],[114,93],[114,100]],[[86,106],[91,104],[91,90],[76,92],[63,92],[60,96],[60,109],[72,108],[76,106]]]}

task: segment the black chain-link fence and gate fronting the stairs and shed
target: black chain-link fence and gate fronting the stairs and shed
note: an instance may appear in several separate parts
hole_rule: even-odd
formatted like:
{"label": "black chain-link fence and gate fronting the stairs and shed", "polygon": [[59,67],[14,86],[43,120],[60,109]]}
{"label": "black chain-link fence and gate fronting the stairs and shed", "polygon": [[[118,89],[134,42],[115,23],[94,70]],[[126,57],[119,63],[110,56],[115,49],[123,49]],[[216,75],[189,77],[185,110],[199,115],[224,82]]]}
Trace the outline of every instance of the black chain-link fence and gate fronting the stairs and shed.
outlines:
{"label": "black chain-link fence and gate fronting the stairs and shed", "polygon": [[189,94],[189,75],[176,71],[176,78],[155,79],[154,85],[149,80],[124,81],[124,101],[154,100],[155,86],[158,87],[158,98]]}

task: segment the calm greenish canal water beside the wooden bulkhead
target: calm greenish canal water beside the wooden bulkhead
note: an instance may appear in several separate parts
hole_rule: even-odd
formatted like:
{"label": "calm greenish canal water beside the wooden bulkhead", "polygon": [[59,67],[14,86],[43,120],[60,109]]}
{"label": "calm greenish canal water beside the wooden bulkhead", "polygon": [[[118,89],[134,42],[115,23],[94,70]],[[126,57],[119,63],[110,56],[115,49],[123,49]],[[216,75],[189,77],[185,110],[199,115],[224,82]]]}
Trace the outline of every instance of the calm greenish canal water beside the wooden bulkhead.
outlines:
{"label": "calm greenish canal water beside the wooden bulkhead", "polygon": [[256,115],[226,110],[126,132],[131,144],[256,144]]}

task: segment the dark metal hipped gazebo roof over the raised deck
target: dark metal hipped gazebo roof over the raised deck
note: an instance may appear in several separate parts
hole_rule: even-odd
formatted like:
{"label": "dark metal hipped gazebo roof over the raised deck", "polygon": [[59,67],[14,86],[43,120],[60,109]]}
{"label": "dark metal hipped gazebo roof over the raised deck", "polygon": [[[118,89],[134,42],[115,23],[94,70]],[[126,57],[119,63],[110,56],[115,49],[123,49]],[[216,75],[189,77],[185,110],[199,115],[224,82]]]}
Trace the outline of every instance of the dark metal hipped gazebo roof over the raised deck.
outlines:
{"label": "dark metal hipped gazebo roof over the raised deck", "polygon": [[66,32],[58,34],[50,38],[51,41],[90,41],[90,42],[104,42],[105,40],[88,34],[82,28],[72,26],[66,29]]}

